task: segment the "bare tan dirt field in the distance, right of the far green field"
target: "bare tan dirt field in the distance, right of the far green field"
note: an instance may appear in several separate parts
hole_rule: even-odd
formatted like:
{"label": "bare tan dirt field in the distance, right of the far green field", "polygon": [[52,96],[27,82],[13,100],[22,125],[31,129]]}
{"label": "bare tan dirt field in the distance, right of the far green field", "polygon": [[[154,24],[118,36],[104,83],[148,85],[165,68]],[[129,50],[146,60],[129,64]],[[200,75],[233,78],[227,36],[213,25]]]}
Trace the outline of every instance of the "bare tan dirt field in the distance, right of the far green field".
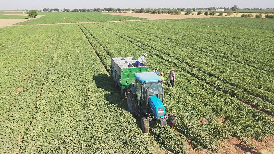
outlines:
{"label": "bare tan dirt field in the distance, right of the far green field", "polygon": [[206,15],[168,15],[168,14],[116,13],[116,12],[109,12],[109,13],[104,13],[104,14],[149,18],[149,19],[154,19],[154,20],[155,19],[185,19],[185,18],[212,18],[212,17],[216,17],[216,16],[206,16]]}

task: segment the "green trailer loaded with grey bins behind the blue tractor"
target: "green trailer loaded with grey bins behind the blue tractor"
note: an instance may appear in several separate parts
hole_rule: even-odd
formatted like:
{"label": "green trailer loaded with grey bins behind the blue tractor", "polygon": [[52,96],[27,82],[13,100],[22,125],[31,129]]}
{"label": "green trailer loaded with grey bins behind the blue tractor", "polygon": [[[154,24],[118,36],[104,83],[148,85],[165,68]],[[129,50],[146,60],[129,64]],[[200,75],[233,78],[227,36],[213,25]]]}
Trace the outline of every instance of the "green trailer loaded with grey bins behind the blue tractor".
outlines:
{"label": "green trailer loaded with grey bins behind the blue tractor", "polygon": [[114,87],[121,88],[121,97],[125,98],[127,89],[131,88],[131,84],[134,83],[135,73],[148,72],[148,67],[136,65],[136,59],[134,57],[119,57],[111,58],[111,75]]}

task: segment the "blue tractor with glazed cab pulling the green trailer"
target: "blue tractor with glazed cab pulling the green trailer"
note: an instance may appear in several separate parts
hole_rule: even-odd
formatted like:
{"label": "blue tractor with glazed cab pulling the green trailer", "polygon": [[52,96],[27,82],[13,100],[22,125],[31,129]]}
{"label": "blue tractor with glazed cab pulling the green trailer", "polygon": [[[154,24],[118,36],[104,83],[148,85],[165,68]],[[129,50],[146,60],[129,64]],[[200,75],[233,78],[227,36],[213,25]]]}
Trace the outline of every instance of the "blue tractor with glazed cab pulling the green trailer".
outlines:
{"label": "blue tractor with glazed cab pulling the green trailer", "polygon": [[154,72],[135,73],[134,77],[134,83],[127,90],[127,104],[132,115],[142,117],[142,131],[149,132],[149,121],[157,121],[160,125],[168,124],[175,128],[175,116],[171,113],[166,115],[163,105],[162,79]]}

